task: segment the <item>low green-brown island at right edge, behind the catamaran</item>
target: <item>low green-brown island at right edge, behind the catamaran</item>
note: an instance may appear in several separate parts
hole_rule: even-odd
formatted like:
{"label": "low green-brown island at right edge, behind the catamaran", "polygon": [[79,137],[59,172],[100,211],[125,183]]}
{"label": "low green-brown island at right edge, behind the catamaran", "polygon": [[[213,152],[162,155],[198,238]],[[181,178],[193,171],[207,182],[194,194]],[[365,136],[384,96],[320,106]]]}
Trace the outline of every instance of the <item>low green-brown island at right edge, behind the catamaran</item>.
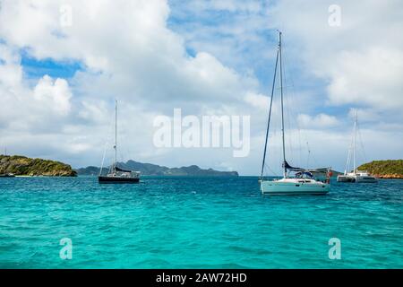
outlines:
{"label": "low green-brown island at right edge, behind the catamaran", "polygon": [[403,160],[371,161],[360,165],[357,170],[366,170],[376,178],[403,179]]}

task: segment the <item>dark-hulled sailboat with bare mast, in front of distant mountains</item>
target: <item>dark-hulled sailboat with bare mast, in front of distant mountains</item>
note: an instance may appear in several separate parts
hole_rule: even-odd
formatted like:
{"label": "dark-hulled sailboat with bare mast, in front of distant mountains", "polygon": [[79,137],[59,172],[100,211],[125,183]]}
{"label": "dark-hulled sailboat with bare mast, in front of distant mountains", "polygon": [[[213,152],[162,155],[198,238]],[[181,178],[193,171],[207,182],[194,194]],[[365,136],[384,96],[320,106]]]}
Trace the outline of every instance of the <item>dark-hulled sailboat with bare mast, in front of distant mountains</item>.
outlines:
{"label": "dark-hulled sailboat with bare mast, in front of distant mountains", "polygon": [[99,183],[138,183],[140,181],[140,172],[124,170],[117,167],[117,100],[115,100],[115,162],[110,166],[107,175],[102,176],[102,166],[99,170]]}

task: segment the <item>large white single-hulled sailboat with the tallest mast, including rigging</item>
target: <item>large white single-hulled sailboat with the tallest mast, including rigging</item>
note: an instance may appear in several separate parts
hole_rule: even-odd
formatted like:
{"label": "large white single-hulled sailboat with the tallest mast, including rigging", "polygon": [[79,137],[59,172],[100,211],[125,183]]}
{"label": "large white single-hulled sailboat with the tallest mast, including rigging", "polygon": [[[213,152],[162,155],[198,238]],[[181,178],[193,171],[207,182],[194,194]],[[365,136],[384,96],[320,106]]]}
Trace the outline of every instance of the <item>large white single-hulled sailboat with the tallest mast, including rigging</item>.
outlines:
{"label": "large white single-hulled sailboat with the tallest mast, including rigging", "polygon": [[[276,75],[279,64],[279,82],[281,95],[281,135],[282,135],[282,151],[283,151],[283,178],[265,179],[263,178],[264,164],[266,160],[267,142],[270,128],[271,107],[273,103],[274,88],[276,83]],[[283,67],[281,59],[281,31],[279,31],[279,48],[277,51],[276,65],[274,69],[274,78],[271,88],[269,119],[266,129],[266,141],[264,144],[262,173],[259,179],[261,191],[263,195],[282,196],[282,195],[326,195],[330,191],[330,169],[327,172],[327,178],[324,181],[313,178],[313,174],[309,170],[292,167],[286,161],[286,140],[284,132],[284,105],[283,105]],[[291,177],[294,172],[294,177]]]}

